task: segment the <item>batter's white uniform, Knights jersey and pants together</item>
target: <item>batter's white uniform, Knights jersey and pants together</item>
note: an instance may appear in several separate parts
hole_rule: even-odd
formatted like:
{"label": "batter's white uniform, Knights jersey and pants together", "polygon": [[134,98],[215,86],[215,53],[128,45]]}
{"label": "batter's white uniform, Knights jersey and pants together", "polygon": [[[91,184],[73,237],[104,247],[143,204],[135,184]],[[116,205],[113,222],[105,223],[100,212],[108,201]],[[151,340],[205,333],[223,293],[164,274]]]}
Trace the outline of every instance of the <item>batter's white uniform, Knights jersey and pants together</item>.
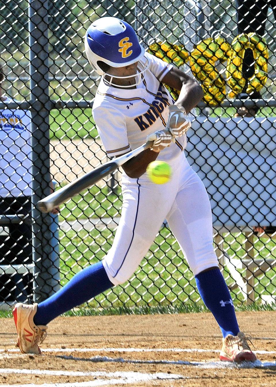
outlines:
{"label": "batter's white uniform, Knights jersey and pants together", "polygon": [[[145,57],[149,68],[135,89],[107,86],[103,78],[99,83],[93,117],[111,157],[139,147],[148,134],[166,126],[173,100],[161,82],[172,65],[148,53]],[[218,265],[213,249],[211,205],[204,185],[185,157],[186,143],[185,135],[158,154],[157,159],[169,163],[173,171],[166,184],[154,184],[147,173],[139,178],[123,173],[121,219],[112,247],[103,259],[113,284],[130,278],[165,218],[194,274]]]}

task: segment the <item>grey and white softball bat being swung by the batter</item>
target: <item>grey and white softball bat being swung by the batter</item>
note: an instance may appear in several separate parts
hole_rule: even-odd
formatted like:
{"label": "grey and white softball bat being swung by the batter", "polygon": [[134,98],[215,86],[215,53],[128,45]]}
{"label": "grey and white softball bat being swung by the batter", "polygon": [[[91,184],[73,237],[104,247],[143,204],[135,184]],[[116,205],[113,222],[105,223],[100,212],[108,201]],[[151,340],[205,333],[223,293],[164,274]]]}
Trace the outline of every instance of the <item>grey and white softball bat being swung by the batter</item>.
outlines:
{"label": "grey and white softball bat being swung by the batter", "polygon": [[41,212],[50,212],[53,208],[64,203],[66,200],[71,199],[71,197],[79,194],[82,190],[91,187],[105,176],[114,172],[121,166],[126,163],[129,159],[137,156],[139,153],[145,149],[150,148],[153,145],[153,141],[147,141],[146,144],[141,145],[140,147],[130,151],[122,156],[108,161],[107,163],[100,165],[95,168],[93,171],[86,173],[85,175],[79,177],[74,182],[65,185],[65,187],[60,188],[53,194],[46,196],[44,199],[39,200],[37,207]]}

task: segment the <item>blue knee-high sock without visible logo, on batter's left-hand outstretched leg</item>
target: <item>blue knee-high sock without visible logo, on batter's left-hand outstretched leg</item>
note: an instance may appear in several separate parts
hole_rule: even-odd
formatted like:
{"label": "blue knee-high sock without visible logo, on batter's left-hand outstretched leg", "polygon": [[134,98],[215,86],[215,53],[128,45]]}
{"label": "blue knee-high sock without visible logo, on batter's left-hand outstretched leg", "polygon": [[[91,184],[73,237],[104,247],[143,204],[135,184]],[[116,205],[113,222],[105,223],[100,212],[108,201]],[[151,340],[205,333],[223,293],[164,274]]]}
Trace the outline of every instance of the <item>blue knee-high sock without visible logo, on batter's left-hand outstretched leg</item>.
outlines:
{"label": "blue knee-high sock without visible logo, on batter's left-hand outstretched leg", "polygon": [[46,325],[58,315],[111,288],[102,262],[83,269],[54,295],[38,304],[34,324]]}

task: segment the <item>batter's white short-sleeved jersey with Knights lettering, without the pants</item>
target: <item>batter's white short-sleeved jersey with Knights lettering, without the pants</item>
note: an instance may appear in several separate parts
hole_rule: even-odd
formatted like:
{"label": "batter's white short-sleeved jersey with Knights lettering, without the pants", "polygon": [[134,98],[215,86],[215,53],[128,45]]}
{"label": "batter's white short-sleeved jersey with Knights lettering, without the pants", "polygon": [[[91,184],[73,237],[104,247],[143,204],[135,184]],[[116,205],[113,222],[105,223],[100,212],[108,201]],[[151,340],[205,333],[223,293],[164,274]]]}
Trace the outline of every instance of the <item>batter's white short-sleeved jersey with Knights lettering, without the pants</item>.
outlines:
{"label": "batter's white short-sleeved jersey with Knights lettering, without the pants", "polygon": [[[119,89],[105,84],[103,77],[93,103],[93,117],[108,156],[119,156],[144,144],[148,134],[162,130],[173,100],[161,83],[173,67],[145,53],[149,68],[135,89]],[[146,59],[142,58],[144,62]],[[139,68],[139,63],[138,63]],[[162,150],[159,160],[170,163],[187,144],[186,135]]]}

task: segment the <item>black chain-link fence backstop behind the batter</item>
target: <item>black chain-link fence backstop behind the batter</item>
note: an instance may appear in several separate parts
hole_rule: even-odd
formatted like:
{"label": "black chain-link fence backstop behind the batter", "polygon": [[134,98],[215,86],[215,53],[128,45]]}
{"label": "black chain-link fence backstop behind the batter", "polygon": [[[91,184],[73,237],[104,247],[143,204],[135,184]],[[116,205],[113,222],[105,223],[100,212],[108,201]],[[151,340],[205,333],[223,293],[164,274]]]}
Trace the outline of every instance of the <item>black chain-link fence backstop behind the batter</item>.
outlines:
{"label": "black chain-link fence backstop behind the batter", "polygon": [[[111,247],[120,171],[57,214],[36,202],[107,161],[84,54],[98,17],[129,22],[144,47],[196,77],[185,150],[213,209],[214,248],[235,302],[276,295],[276,4],[251,0],[0,1],[0,302],[40,301]],[[257,15],[257,16],[256,16]],[[171,91],[174,93],[175,91]],[[175,95],[175,94],[174,94]],[[50,155],[50,158],[49,158]],[[200,301],[164,219],[139,269],[93,307]]]}

